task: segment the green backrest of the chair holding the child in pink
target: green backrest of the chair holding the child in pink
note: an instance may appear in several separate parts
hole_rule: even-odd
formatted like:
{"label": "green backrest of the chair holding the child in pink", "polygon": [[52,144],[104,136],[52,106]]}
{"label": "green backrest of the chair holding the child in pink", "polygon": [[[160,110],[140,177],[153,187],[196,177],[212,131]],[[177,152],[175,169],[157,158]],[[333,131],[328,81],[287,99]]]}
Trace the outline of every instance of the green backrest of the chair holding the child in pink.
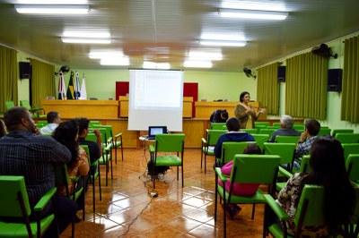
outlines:
{"label": "green backrest of the chair holding the child in pink", "polygon": [[231,181],[232,183],[273,183],[279,163],[279,156],[237,154],[234,156]]}

